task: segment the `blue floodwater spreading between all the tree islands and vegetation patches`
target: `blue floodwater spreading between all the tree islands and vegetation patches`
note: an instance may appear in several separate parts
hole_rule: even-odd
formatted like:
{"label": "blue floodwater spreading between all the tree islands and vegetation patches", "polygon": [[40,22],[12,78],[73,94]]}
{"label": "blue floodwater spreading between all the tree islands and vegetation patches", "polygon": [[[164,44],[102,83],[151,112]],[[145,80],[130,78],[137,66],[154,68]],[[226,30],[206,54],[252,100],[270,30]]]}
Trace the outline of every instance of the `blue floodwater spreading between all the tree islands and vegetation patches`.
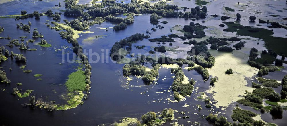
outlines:
{"label": "blue floodwater spreading between all the tree islands and vegetation patches", "polygon": [[[61,7],[56,7],[55,5],[61,2]],[[91,1],[79,1],[78,4],[86,4]],[[119,1],[118,1],[119,2]],[[128,3],[130,1],[124,1]],[[286,18],[286,10],[282,8],[287,8],[287,5],[283,0],[280,1],[260,1],[253,0],[251,1],[239,1],[247,6],[237,5],[237,1],[227,1],[227,0],[217,0],[208,3],[208,16],[204,19],[206,22],[202,23],[203,20],[194,21],[194,23],[199,23],[201,25],[205,25],[209,27],[205,29],[206,35],[216,36],[216,37],[234,37],[236,33],[223,32],[225,29],[218,26],[222,24],[220,18],[213,18],[209,15],[217,14],[217,15],[226,15],[236,18],[236,13],[241,13],[241,24],[243,26],[256,26],[259,24],[258,21],[256,23],[249,23],[249,16],[254,15],[257,20],[264,19],[271,21],[280,22],[286,24],[286,20],[282,20],[282,18]],[[168,4],[185,6],[185,7],[195,7],[195,1],[186,1],[186,0],[176,0],[168,2]],[[227,7],[233,8],[235,12],[227,12],[223,9],[223,4]],[[43,0],[43,1],[11,1],[7,3],[0,4],[0,15],[12,15],[12,14],[20,14],[21,10],[26,10],[27,13],[32,13],[35,10],[39,12],[46,12],[48,9],[52,9],[53,12],[61,10],[65,10],[65,3],[63,1],[56,0]],[[243,12],[237,11],[239,9],[243,9]],[[260,9],[260,11],[258,10]],[[189,9],[187,9],[189,10]],[[279,12],[277,10],[282,10],[284,13]],[[183,10],[180,10],[183,11]],[[258,14],[254,14],[254,12],[261,12]],[[63,12],[62,12],[63,13]],[[282,18],[271,17],[270,14],[280,15]],[[124,17],[122,14],[117,16]],[[72,20],[74,17],[66,17],[61,15],[61,23],[63,20]],[[49,21],[47,21],[49,20]],[[104,22],[102,24],[94,24],[90,26],[89,31],[94,33],[85,33],[79,34],[80,37],[77,39],[79,44],[88,51],[92,53],[104,54],[104,57],[108,57],[109,50],[113,46],[116,41],[133,35],[135,33],[146,33],[146,30],[150,30],[154,26],[150,24],[150,14],[143,14],[139,16],[135,16],[134,23],[129,24],[126,29],[120,31],[113,31],[113,29],[101,29],[101,28],[109,28],[113,27],[115,24],[111,22]],[[226,21],[234,21],[235,19],[229,19]],[[16,63],[15,60],[11,60],[8,58],[7,61],[1,62],[1,70],[5,70],[7,77],[11,80],[11,84],[1,84],[0,85],[0,122],[2,125],[101,125],[101,124],[112,124],[117,121],[120,122],[120,119],[124,117],[131,117],[140,119],[141,115],[145,114],[149,111],[160,112],[164,108],[172,108],[177,110],[178,112],[184,111],[185,116],[189,116],[189,119],[183,119],[177,117],[182,117],[178,112],[175,113],[175,120],[167,122],[164,125],[170,125],[170,123],[178,122],[178,124],[183,125],[212,125],[209,124],[205,120],[205,116],[209,113],[224,115],[228,121],[232,122],[230,115],[232,114],[232,110],[235,107],[236,102],[230,104],[225,110],[221,110],[221,108],[216,108],[212,106],[211,109],[205,107],[204,101],[198,99],[200,96],[200,92],[205,92],[210,88],[209,81],[204,82],[201,75],[199,75],[196,71],[191,70],[187,71],[183,69],[185,75],[191,79],[193,78],[197,81],[194,85],[195,90],[191,94],[191,96],[185,97],[184,101],[180,102],[172,102],[168,99],[174,100],[173,93],[169,88],[172,85],[174,74],[170,73],[170,68],[161,68],[159,70],[158,81],[152,85],[144,85],[141,79],[137,79],[137,77],[132,77],[133,80],[129,82],[127,85],[126,77],[122,75],[122,66],[124,64],[116,64],[113,63],[110,58],[100,58],[100,62],[98,63],[90,63],[92,66],[92,76],[91,76],[91,89],[88,99],[83,100],[84,104],[77,106],[77,108],[68,109],[65,111],[53,111],[46,112],[46,110],[42,110],[36,108],[34,110],[29,107],[25,108],[21,106],[25,102],[29,102],[29,98],[18,98],[18,96],[11,95],[13,88],[18,87],[18,89],[22,89],[25,91],[27,89],[34,90],[30,95],[36,96],[36,98],[42,98],[44,101],[55,100],[56,104],[65,103],[65,100],[61,99],[61,94],[65,93],[67,90],[65,88],[65,81],[67,80],[67,76],[75,72],[78,63],[68,63],[66,60],[62,63],[62,49],[65,52],[65,57],[67,54],[70,58],[73,57],[73,50],[71,44],[67,43],[66,40],[61,39],[59,32],[55,31],[46,26],[45,23],[49,23],[53,21],[51,17],[41,16],[39,20],[35,20],[34,18],[28,18],[24,20],[15,20],[14,18],[1,18],[0,26],[4,26],[5,30],[3,33],[0,33],[0,37],[11,37],[12,39],[20,39],[20,36],[27,36],[25,39],[26,42],[28,39],[32,39],[32,33],[28,33],[27,31],[23,31],[16,28],[17,23],[28,24],[28,21],[32,23],[31,31],[34,28],[37,28],[39,33],[44,35],[44,38],[52,47],[44,48],[36,45],[37,42],[40,42],[40,38],[35,39],[34,43],[29,43],[30,48],[36,48],[37,51],[20,51],[17,47],[8,47],[5,46],[9,43],[7,39],[0,39],[0,46],[4,46],[5,49],[8,49],[9,52],[13,51],[15,54],[24,54],[27,58],[26,63]],[[179,33],[176,30],[172,32],[172,29],[175,25],[184,26],[189,24],[191,20],[185,20],[182,18],[162,18],[159,19],[160,22],[168,21],[168,24],[162,24],[164,26],[162,29],[156,28],[156,32],[152,32],[150,34],[151,38],[160,37],[162,35],[169,35],[171,33]],[[267,28],[266,25],[257,26],[260,28]],[[286,37],[286,29],[283,28],[273,28],[274,36],[277,37]],[[151,31],[151,30],[150,30]],[[99,39],[93,39],[92,42],[85,43],[83,40],[93,36],[102,36]],[[250,37],[240,37],[240,38],[250,38]],[[197,39],[197,41],[204,39]],[[186,52],[191,49],[193,45],[185,45],[181,39],[175,39],[176,42],[173,43],[173,48],[175,51],[167,51],[164,53],[166,56],[170,56],[172,58],[186,58]],[[256,47],[258,50],[266,50],[264,47],[263,41],[260,39],[252,38],[246,39],[247,43],[245,47],[240,51],[243,53],[249,54],[249,51],[252,47]],[[257,45],[257,42],[260,42]],[[234,43],[230,42],[230,47],[232,47]],[[144,49],[136,49],[134,45],[146,45]],[[148,41],[148,39],[144,39],[142,41],[137,41],[137,43],[133,44],[132,53],[141,53],[144,54],[149,50],[153,50],[153,47],[158,46],[159,44],[152,43]],[[162,44],[160,44],[162,45]],[[168,47],[168,43],[165,45]],[[108,50],[108,53],[106,53]],[[162,55],[162,53],[156,53],[157,55]],[[96,60],[99,57],[90,56],[90,60]],[[242,59],[242,60],[246,60]],[[103,60],[103,63],[101,62]],[[62,64],[59,64],[62,63]],[[24,70],[32,70],[32,73],[24,73],[19,68],[21,65],[26,65]],[[147,67],[150,67],[151,64],[144,64]],[[286,64],[284,64],[286,67]],[[9,67],[12,68],[12,71],[9,71]],[[185,67],[185,65],[183,66]],[[283,76],[286,75],[286,68],[282,69],[282,71],[271,72],[266,76],[263,76],[268,79],[276,79],[281,81]],[[38,81],[34,74],[42,74],[43,76],[41,81]],[[247,86],[251,86],[252,81],[256,81],[256,76],[253,76],[250,79],[246,79]],[[15,83],[21,82],[22,86],[17,86]],[[216,85],[215,85],[216,86]],[[281,87],[275,89],[276,92],[280,91]],[[278,92],[279,93],[279,92]],[[206,94],[208,97],[212,99],[212,94]],[[228,94],[226,94],[228,95]],[[186,106],[189,105],[189,106]],[[197,105],[202,106],[202,110],[197,109]],[[184,107],[186,106],[186,107]],[[241,108],[245,110],[251,110],[257,114],[259,111],[253,110],[250,107],[242,106]],[[262,114],[261,118],[265,122],[276,123],[277,125],[284,125],[286,123],[287,112],[284,111],[282,119],[274,119],[271,117],[269,113]],[[197,122],[197,123],[195,123]],[[199,124],[198,124],[199,123]]]}

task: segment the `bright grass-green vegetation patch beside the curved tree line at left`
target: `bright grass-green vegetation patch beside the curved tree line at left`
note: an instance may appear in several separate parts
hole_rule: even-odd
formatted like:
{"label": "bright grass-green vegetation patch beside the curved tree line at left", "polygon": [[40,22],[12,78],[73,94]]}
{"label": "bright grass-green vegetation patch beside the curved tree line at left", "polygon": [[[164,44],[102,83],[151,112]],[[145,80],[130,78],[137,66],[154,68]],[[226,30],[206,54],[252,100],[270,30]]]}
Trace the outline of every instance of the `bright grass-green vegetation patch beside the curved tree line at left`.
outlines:
{"label": "bright grass-green vegetation patch beside the curved tree line at left", "polygon": [[78,70],[68,76],[65,85],[69,92],[84,91],[86,88],[86,75],[83,70]]}

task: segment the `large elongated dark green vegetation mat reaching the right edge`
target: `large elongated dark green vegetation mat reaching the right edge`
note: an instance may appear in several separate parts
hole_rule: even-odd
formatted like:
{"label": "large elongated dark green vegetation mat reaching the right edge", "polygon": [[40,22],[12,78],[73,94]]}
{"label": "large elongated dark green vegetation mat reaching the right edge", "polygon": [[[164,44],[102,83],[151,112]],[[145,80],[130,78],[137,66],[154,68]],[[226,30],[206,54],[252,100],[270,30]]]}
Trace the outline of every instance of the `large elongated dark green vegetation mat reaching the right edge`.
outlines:
{"label": "large elongated dark green vegetation mat reaching the right edge", "polygon": [[[258,32],[252,32],[252,31],[258,31]],[[265,42],[265,47],[270,50],[272,49],[277,54],[284,54],[287,56],[287,38],[281,38],[281,37],[274,37],[272,36],[273,32],[268,29],[264,28],[242,28],[237,31],[236,35],[241,36],[251,36],[259,39],[263,39]]]}

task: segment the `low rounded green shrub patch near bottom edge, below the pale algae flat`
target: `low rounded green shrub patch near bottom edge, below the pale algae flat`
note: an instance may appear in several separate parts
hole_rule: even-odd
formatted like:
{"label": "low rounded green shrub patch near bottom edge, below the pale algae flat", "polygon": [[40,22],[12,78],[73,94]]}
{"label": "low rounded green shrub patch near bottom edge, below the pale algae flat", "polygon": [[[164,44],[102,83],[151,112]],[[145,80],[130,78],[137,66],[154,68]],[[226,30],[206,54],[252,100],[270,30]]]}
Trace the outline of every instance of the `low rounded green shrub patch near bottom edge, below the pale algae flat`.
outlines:
{"label": "low rounded green shrub patch near bottom edge, below the pale algae flat", "polygon": [[233,110],[231,118],[233,121],[239,121],[240,123],[253,123],[252,117],[256,116],[255,113],[247,110],[242,110],[240,108],[236,108]]}

